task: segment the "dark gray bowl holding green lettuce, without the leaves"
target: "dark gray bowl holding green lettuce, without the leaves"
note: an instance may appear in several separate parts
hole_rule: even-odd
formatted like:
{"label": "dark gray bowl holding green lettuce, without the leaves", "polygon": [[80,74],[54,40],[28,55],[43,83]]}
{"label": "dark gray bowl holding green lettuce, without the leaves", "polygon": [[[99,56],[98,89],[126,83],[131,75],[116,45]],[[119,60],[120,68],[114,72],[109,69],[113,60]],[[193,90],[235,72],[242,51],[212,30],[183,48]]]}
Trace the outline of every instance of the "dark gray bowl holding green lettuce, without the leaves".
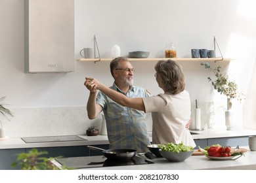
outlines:
{"label": "dark gray bowl holding green lettuce, without the leaves", "polygon": [[168,161],[180,162],[184,161],[185,159],[189,158],[194,151],[188,152],[170,152],[170,151],[162,151],[160,149],[160,154],[163,158],[167,159]]}

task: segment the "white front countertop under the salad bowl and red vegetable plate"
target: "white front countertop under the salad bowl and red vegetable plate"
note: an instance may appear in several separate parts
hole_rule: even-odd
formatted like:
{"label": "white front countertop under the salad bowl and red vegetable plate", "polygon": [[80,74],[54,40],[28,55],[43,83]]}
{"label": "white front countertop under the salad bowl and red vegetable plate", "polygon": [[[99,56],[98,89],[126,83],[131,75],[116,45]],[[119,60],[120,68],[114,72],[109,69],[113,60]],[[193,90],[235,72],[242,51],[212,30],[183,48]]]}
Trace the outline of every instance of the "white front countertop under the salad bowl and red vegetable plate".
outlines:
{"label": "white front countertop under the salad bowl and red vegetable plate", "polygon": [[[182,162],[169,162],[165,158],[155,158],[148,159],[154,163],[146,163],[143,165],[122,165],[122,166],[110,166],[102,167],[98,165],[93,168],[83,168],[81,169],[90,169],[90,170],[201,170],[201,169],[226,169],[226,170],[255,170],[256,169],[256,151],[250,151],[248,146],[245,146],[248,151],[244,153],[244,156],[241,156],[238,159],[234,160],[213,160],[209,159],[206,156],[191,156]],[[144,157],[145,158],[145,157]],[[95,162],[102,161],[102,156],[97,156],[94,158],[90,157],[77,157],[77,158],[66,158],[68,161],[72,162]],[[61,167],[61,164],[58,161],[53,160],[54,165]],[[71,164],[70,164],[71,165]],[[87,163],[85,163],[85,166]],[[61,169],[61,168],[60,168]]]}

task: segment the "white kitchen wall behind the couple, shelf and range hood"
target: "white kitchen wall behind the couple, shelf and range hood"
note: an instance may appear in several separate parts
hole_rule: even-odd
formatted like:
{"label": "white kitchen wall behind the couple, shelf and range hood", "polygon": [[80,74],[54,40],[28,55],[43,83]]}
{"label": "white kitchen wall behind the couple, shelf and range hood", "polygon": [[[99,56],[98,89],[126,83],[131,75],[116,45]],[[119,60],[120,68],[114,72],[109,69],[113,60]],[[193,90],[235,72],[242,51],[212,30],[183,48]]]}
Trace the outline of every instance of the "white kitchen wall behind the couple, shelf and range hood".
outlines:
{"label": "white kitchen wall behind the couple, shelf and range hood", "polygon": [[[120,46],[121,56],[145,50],[150,52],[150,58],[163,58],[165,44],[169,41],[177,45],[179,58],[190,58],[191,48],[213,49],[215,36],[224,58],[235,60],[211,65],[221,65],[246,94],[241,107],[243,120],[239,125],[256,129],[255,5],[253,0],[75,0],[75,72],[25,74],[24,1],[0,0],[0,97],[7,96],[5,103],[17,113],[10,124],[4,121],[7,133],[12,137],[37,136],[33,130],[41,131],[40,135],[81,134],[81,128],[93,122],[87,118],[85,110],[89,95],[83,86],[85,76],[95,77],[109,86],[113,82],[109,61],[76,61],[81,58],[79,51],[82,48],[93,47],[94,35],[102,58],[110,57],[114,44]],[[220,56],[219,52],[217,56]],[[135,85],[153,94],[162,92],[154,82],[156,62],[136,61],[132,64],[136,69]],[[218,106],[225,104],[225,97],[216,93],[207,82],[207,76],[213,75],[199,62],[181,62],[181,65],[192,108],[196,99],[204,112],[213,102]],[[67,108],[69,118],[56,117],[62,116]],[[49,112],[49,109],[55,112]],[[37,120],[41,115],[47,118]],[[43,124],[49,122],[53,129],[47,131],[47,125]],[[215,118],[215,123],[222,127],[223,118]],[[203,120],[203,125],[209,127],[207,119]]]}

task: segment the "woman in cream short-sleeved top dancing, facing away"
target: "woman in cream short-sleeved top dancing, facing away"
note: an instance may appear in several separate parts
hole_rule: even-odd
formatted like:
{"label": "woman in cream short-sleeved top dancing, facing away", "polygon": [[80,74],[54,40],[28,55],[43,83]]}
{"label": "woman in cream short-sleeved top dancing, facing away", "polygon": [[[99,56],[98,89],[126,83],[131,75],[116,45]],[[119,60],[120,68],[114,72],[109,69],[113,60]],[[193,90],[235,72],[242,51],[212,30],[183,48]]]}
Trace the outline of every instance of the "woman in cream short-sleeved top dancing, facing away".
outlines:
{"label": "woman in cream short-sleeved top dancing, facing away", "polygon": [[129,98],[111,90],[94,78],[86,78],[85,86],[100,90],[120,105],[152,112],[154,144],[184,142],[186,146],[195,147],[192,135],[186,129],[186,123],[190,120],[191,114],[190,96],[184,90],[184,74],[181,65],[171,59],[160,60],[156,63],[155,70],[156,82],[164,93],[152,97]]}

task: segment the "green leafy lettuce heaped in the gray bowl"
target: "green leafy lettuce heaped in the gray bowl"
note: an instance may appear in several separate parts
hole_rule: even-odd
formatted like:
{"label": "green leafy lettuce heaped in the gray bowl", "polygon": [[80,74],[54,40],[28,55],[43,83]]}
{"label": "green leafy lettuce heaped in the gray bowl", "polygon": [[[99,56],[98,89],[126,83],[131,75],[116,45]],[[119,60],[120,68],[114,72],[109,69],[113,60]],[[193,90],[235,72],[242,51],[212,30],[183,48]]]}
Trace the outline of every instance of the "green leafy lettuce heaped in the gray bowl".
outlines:
{"label": "green leafy lettuce heaped in the gray bowl", "polygon": [[158,147],[162,151],[170,151],[170,152],[188,152],[191,150],[194,150],[192,146],[185,146],[184,142],[181,142],[179,144],[173,144],[172,142],[169,142],[167,144],[160,144]]}

